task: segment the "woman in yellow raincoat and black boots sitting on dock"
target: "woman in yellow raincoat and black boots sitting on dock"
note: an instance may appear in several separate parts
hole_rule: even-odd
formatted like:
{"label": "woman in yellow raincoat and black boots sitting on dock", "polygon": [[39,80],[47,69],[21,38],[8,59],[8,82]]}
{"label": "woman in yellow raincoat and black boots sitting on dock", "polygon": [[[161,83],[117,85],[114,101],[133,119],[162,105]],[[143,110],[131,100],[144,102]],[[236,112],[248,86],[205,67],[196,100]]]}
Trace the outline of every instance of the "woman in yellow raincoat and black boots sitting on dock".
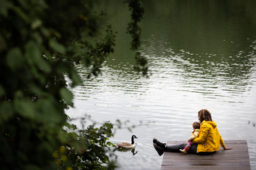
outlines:
{"label": "woman in yellow raincoat and black boots sitting on dock", "polygon": [[[220,150],[220,145],[225,150],[230,150],[225,146],[223,138],[221,138],[218,129],[216,128],[217,124],[212,120],[212,116],[209,113],[209,110],[202,109],[199,110],[199,121],[201,124],[199,137],[192,140],[193,144],[189,149],[189,153],[200,154],[200,153],[211,153],[213,151]],[[153,139],[153,145],[156,149],[158,155],[163,155],[164,151],[179,151],[179,149],[185,148],[186,143],[178,145],[166,145],[157,141],[156,138]]]}

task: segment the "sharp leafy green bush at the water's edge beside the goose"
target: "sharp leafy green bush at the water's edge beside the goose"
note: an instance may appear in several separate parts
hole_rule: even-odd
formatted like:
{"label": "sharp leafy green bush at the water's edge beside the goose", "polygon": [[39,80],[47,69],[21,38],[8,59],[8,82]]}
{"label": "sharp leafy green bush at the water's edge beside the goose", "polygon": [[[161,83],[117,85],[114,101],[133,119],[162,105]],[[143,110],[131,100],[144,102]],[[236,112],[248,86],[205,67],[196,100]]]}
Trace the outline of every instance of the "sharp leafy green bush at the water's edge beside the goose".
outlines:
{"label": "sharp leafy green bush at the water's edge beside the goose", "polygon": [[[116,168],[116,165],[111,161],[113,153],[110,147],[113,145],[108,141],[113,136],[112,128],[113,124],[106,122],[99,128],[95,128],[95,125],[89,125],[85,130],[77,131],[75,136],[73,133],[68,133],[69,138],[76,138],[68,146],[68,148],[75,149],[67,149],[65,153],[71,158],[74,169]],[[68,164],[66,165],[68,166]]]}

